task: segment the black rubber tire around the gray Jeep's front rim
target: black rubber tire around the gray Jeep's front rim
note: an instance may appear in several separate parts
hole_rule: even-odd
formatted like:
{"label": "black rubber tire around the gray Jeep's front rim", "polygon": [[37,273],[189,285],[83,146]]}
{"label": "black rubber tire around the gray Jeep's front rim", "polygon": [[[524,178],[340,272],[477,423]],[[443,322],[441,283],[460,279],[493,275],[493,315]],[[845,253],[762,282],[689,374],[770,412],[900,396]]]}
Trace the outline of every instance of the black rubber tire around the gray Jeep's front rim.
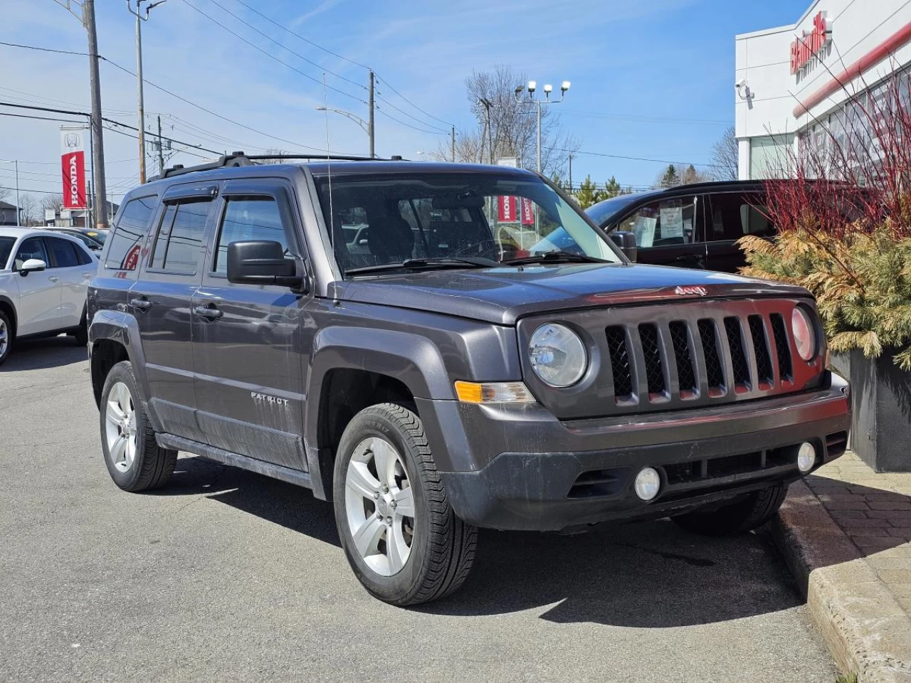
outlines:
{"label": "black rubber tire around the gray Jeep's front rim", "polygon": [[[382,439],[397,451],[414,498],[410,555],[392,576],[383,576],[366,564],[354,545],[347,518],[348,468],[355,448],[370,438]],[[354,575],[372,595],[404,607],[438,600],[465,583],[475,561],[477,530],[458,519],[446,500],[424,425],[413,411],[395,403],[380,403],[353,417],[336,454],[333,494],[335,523],[345,555]],[[387,538],[388,532],[384,533]]]}

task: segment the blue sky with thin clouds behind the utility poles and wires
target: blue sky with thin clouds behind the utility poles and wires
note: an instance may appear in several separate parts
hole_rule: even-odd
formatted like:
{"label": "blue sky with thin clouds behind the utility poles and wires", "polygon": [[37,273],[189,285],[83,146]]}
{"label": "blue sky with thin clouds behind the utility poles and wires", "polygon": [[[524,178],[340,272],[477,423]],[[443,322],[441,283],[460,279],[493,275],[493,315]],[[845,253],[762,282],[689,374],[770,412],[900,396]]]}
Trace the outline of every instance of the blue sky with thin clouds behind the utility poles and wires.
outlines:
{"label": "blue sky with thin clouds behind the utility poles and wires", "polygon": [[[442,121],[470,125],[466,76],[473,69],[505,64],[540,84],[572,82],[566,101],[555,110],[579,138],[581,150],[696,164],[708,161],[712,142],[733,123],[734,35],[793,24],[808,5],[805,0],[243,1],[338,55],[374,68],[386,100],[379,101],[381,112],[423,129],[378,115],[381,156],[420,158],[418,152],[447,139],[426,132],[431,127],[448,130]],[[135,69],[134,29],[126,4],[96,4],[99,53]],[[54,0],[5,0],[3,5],[0,41],[85,51],[85,32]],[[190,5],[315,81],[244,44]],[[323,70],[353,81],[327,75],[330,87],[353,96],[329,90],[329,107],[366,117],[360,101],[366,92],[357,85],[366,82],[362,66],[291,36],[238,0],[169,0],[153,10],[143,30],[149,81],[247,127],[147,86],[147,125],[162,114],[166,135],[173,138],[250,153],[295,145],[325,148],[326,121],[315,111],[323,101]],[[0,46],[0,101],[87,109],[86,62],[80,56]],[[110,65],[102,66],[101,77],[108,115],[136,125],[131,113],[135,79]],[[0,117],[0,159],[23,160],[23,187],[56,189],[58,125]],[[343,117],[329,118],[329,139],[339,151],[366,151],[363,131]],[[137,143],[106,132],[105,144],[108,186],[116,199],[135,184]],[[198,160],[185,154],[172,159],[185,164]],[[10,168],[0,164],[0,186],[11,185]],[[598,181],[615,176],[624,185],[648,185],[661,168],[660,163],[580,155],[573,177],[590,173]]]}

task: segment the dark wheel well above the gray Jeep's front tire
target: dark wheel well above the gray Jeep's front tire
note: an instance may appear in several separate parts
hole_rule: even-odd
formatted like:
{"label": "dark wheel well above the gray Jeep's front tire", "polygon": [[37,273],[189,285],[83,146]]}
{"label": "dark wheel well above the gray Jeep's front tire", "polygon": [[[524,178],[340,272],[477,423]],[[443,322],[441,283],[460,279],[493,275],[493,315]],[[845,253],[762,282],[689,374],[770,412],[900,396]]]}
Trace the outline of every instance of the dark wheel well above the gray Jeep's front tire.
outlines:
{"label": "dark wheel well above the gray Jeep's front tire", "polygon": [[354,415],[376,403],[401,403],[417,413],[415,395],[401,380],[380,372],[339,368],[322,381],[317,445],[322,460],[324,491],[332,496],[335,451]]}

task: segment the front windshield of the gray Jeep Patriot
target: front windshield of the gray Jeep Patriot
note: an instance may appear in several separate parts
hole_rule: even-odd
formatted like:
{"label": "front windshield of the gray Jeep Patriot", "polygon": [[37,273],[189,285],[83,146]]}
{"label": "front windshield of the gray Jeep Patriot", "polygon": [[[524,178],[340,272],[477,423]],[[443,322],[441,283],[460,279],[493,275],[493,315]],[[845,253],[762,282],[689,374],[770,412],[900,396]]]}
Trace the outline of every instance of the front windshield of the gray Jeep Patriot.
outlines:
{"label": "front windshield of the gray Jeep Patriot", "polygon": [[[540,178],[489,172],[339,175],[331,198],[329,178],[316,180],[323,218],[333,226],[335,258],[345,272],[407,260],[475,259],[496,266],[558,251],[621,262],[578,209]],[[559,239],[548,240],[552,234]]]}

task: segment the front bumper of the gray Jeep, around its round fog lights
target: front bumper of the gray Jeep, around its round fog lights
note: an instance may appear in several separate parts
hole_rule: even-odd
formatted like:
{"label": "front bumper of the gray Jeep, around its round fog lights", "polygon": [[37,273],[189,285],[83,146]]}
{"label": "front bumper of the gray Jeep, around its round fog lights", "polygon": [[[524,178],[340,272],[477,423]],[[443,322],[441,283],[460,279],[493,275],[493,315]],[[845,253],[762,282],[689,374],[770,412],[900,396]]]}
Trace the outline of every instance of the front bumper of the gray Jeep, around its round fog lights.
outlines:
{"label": "front bumper of the gray Jeep, around its round fog lights", "polygon": [[[455,514],[538,531],[671,515],[793,482],[797,446],[813,443],[820,467],[844,453],[851,422],[837,375],[814,392],[686,413],[559,422],[538,406],[438,401],[418,411]],[[661,477],[650,503],[632,487],[647,465]]]}

